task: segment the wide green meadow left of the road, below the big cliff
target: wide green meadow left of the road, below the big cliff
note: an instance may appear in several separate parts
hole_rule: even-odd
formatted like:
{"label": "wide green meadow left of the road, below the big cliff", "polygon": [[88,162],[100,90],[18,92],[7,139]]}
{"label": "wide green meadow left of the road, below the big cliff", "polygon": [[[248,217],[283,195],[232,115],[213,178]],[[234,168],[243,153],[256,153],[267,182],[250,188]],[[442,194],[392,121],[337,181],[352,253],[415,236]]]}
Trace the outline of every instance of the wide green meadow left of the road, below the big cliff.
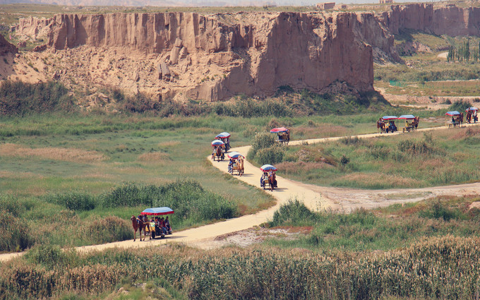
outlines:
{"label": "wide green meadow left of the road, below the big cliff", "polygon": [[[13,241],[3,244],[1,251],[20,250],[38,243],[80,246],[131,238],[128,229],[131,215],[154,204],[162,206],[170,202],[164,194],[149,194],[150,198],[161,198],[164,202],[145,202],[140,195],[134,196],[139,200],[133,203],[104,205],[105,198],[124,193],[129,186],[142,190],[180,182],[184,185],[182,193],[187,193],[185,186],[199,184],[202,188],[199,198],[220,197],[218,205],[210,208],[215,213],[206,213],[208,217],[204,219],[194,212],[179,215],[178,219],[172,217],[174,229],[262,210],[272,205],[270,196],[212,168],[205,160],[210,154],[210,141],[217,133],[232,133],[232,146],[248,145],[256,132],[268,132],[275,126],[291,127],[294,139],[349,136],[374,131],[373,124],[379,115],[397,110],[390,107],[385,112],[273,119],[216,114],[160,118],[148,114],[73,112],[2,116],[0,200],[7,207],[18,204],[15,212],[7,209],[10,215],[3,222],[13,220],[17,224],[25,220],[25,232],[12,236]],[[422,114],[433,116],[438,112]],[[433,120],[428,126],[438,124]],[[186,205],[176,204],[176,210]],[[113,219],[92,224],[107,217]],[[109,229],[116,225],[122,229],[109,234]],[[50,226],[62,230],[52,231]],[[99,237],[85,235],[102,226]]]}

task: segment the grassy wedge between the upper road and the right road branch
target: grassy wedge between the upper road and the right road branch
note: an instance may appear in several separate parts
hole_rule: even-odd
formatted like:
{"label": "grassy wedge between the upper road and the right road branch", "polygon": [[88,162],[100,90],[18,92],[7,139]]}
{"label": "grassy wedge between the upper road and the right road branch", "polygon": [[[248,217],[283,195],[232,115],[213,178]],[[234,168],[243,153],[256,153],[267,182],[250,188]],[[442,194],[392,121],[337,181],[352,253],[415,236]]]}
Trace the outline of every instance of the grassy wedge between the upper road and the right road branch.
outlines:
{"label": "grassy wedge between the upper road and the right road branch", "polygon": [[[400,124],[401,125],[401,124]],[[479,128],[289,146],[279,174],[320,186],[419,188],[480,180]]]}

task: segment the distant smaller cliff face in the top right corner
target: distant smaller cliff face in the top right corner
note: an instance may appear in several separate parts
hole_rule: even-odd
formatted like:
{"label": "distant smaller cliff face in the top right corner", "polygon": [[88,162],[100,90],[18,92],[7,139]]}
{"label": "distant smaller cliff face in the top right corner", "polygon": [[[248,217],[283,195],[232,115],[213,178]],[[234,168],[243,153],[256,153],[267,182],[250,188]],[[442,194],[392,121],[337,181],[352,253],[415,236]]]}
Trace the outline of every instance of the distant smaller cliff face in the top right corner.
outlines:
{"label": "distant smaller cliff face in the top right corner", "polygon": [[480,8],[436,7],[432,4],[392,6],[379,20],[393,33],[403,28],[431,32],[436,35],[480,36]]}

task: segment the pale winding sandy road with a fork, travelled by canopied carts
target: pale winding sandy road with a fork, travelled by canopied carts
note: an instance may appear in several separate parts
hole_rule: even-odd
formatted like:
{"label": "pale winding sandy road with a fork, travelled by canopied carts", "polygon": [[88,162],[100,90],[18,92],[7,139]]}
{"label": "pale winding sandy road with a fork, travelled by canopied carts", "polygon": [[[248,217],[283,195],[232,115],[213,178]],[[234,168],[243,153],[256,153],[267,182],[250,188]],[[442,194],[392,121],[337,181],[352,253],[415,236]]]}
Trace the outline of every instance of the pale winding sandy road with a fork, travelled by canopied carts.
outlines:
{"label": "pale winding sandy road with a fork, travelled by canopied carts", "polygon": [[[466,126],[474,126],[478,124],[467,124]],[[432,131],[443,129],[445,127],[423,128],[419,131]],[[389,133],[388,135],[380,133],[370,133],[356,136],[358,138],[375,138],[378,136],[392,136],[402,133]],[[325,143],[332,140],[339,140],[344,137],[335,138],[316,138],[311,140],[292,140],[290,145],[301,145],[304,143]],[[240,152],[244,155],[248,152],[251,146],[244,146],[239,148],[232,148],[232,151]],[[208,157],[210,160],[210,157]],[[214,167],[227,173],[228,160],[222,162],[212,162]],[[246,174],[244,176],[236,176],[237,179],[251,184],[252,186],[260,186],[261,171],[258,167],[253,166],[250,162],[245,160],[244,167]],[[396,189],[396,190],[356,190],[352,188],[325,188],[311,184],[303,184],[298,181],[284,179],[277,176],[279,188],[272,193],[277,199],[277,203],[253,215],[244,215],[233,219],[217,222],[215,224],[208,224],[202,227],[186,229],[181,232],[175,232],[172,236],[167,236],[166,239],[146,239],[145,241],[117,241],[114,243],[82,246],[78,247],[78,251],[102,251],[107,248],[136,248],[146,246],[157,246],[172,242],[180,242],[189,246],[196,246],[199,248],[213,248],[219,246],[214,242],[215,237],[231,234],[232,232],[239,232],[244,229],[260,225],[272,219],[273,213],[280,205],[287,203],[288,200],[297,198],[305,203],[311,210],[333,209],[344,210],[349,212],[356,208],[378,208],[380,206],[387,206],[393,203],[406,203],[424,200],[440,195],[470,195],[480,193],[480,183],[462,184],[457,186],[440,186],[434,188],[415,188],[415,189]],[[10,260],[23,253],[6,253],[0,255],[0,261]]]}

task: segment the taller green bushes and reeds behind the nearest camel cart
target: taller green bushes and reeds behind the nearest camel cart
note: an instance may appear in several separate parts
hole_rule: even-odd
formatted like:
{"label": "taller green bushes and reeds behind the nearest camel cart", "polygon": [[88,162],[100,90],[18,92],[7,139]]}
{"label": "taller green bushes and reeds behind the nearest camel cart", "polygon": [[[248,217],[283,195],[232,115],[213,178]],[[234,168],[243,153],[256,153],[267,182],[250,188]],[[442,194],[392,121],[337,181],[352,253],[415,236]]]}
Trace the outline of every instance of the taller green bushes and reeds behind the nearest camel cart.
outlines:
{"label": "taller green bushes and reeds behind the nearest camel cart", "polygon": [[237,215],[235,203],[205,191],[195,181],[128,184],[99,196],[79,192],[26,199],[0,196],[0,252],[34,244],[83,246],[133,239],[131,215],[162,206],[174,208],[169,217],[177,230]]}

